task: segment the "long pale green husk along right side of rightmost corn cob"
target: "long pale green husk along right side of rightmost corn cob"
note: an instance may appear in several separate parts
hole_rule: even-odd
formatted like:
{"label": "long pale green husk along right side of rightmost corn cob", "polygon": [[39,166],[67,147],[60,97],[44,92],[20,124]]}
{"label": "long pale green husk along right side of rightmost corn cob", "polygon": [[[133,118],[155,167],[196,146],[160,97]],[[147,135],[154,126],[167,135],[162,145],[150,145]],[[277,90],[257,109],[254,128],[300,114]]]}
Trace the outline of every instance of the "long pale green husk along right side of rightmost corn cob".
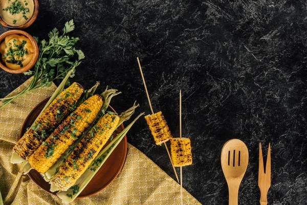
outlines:
{"label": "long pale green husk along right side of rightmost corn cob", "polygon": [[81,177],[76,181],[75,185],[72,186],[68,191],[58,192],[57,195],[62,199],[63,203],[72,202],[86,187],[86,185],[92,180],[98,170],[101,168],[105,160],[111,155],[114,149],[118,146],[120,141],[127,134],[129,129],[137,121],[139,117],[144,115],[144,113],[139,114],[121,133],[119,133],[109,145],[107,145],[95,158],[90,167],[81,175]]}

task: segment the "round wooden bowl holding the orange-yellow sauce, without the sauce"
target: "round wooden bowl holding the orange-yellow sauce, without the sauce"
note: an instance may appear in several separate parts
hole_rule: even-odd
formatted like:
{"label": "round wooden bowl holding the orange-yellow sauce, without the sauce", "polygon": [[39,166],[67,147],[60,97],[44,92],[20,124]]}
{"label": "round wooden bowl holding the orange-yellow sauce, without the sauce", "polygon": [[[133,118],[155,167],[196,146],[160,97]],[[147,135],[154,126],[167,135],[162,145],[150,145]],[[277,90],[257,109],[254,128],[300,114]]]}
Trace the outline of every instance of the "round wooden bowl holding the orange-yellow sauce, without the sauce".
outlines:
{"label": "round wooden bowl holding the orange-yellow sauce, without the sauce", "polygon": [[[8,67],[6,67],[5,63],[3,62],[2,59],[0,59],[0,68],[2,68],[3,70],[5,70],[6,72],[9,72],[9,73],[23,73],[23,72],[26,72],[28,70],[30,70],[36,63],[37,61],[37,58],[38,58],[38,54],[39,54],[39,50],[38,50],[38,46],[37,46],[37,43],[35,41],[35,39],[32,37],[32,35],[30,35],[29,33],[25,32],[25,31],[21,31],[21,30],[10,30],[10,31],[7,31],[5,33],[3,33],[2,35],[0,35],[0,44],[5,40],[5,37],[8,36],[8,35],[11,35],[11,34],[17,34],[17,35],[24,35],[26,36],[27,38],[30,39],[31,41],[31,44],[33,46],[33,57],[30,61],[30,63],[20,69],[16,69],[16,70],[13,70],[13,69],[10,69]],[[2,56],[1,56],[2,58]]]}

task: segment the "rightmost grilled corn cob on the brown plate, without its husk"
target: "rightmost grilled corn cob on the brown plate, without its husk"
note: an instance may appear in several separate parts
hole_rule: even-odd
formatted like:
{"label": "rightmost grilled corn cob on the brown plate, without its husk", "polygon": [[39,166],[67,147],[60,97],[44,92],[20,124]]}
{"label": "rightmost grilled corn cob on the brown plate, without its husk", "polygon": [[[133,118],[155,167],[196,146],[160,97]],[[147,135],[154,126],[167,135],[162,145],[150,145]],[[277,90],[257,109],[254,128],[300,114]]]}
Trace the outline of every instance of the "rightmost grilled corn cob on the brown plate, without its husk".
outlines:
{"label": "rightmost grilled corn cob on the brown plate, without its husk", "polygon": [[112,136],[118,122],[116,114],[107,113],[80,141],[52,179],[60,191],[66,191],[75,184]]}

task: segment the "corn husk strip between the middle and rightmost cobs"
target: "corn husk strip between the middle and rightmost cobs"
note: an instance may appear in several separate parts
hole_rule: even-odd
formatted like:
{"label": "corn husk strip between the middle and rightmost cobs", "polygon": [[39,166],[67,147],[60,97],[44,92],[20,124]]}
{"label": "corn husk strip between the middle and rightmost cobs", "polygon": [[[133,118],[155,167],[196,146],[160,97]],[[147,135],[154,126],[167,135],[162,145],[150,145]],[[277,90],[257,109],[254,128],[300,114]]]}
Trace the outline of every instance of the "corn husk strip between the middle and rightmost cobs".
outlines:
{"label": "corn husk strip between the middle and rightmost cobs", "polygon": [[83,139],[83,137],[87,134],[87,132],[89,132],[92,129],[92,127],[96,124],[96,122],[103,116],[103,114],[105,113],[105,109],[108,107],[111,99],[115,95],[118,95],[120,93],[121,92],[117,92],[116,89],[107,89],[107,88],[105,89],[105,91],[101,94],[101,96],[104,99],[101,111],[98,113],[92,124],[82,133],[82,135],[74,142],[74,144],[62,154],[62,156],[54,163],[54,165],[46,173],[42,174],[43,178],[46,181],[50,181],[54,177],[54,175],[58,172],[59,168],[62,166],[65,160],[73,152],[74,148],[79,144],[79,142]]}

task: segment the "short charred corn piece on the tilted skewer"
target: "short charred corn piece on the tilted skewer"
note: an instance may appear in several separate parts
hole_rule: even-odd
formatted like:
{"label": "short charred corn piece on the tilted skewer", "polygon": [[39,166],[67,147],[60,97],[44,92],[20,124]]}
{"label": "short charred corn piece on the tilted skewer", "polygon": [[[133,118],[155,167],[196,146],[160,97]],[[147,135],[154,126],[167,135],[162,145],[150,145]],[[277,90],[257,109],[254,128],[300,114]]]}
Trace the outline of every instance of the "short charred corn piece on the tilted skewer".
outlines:
{"label": "short charred corn piece on the tilted skewer", "polygon": [[153,139],[155,139],[156,141],[156,145],[161,145],[163,144],[163,142],[166,142],[170,138],[172,138],[161,111],[152,115],[146,115],[145,119],[151,131]]}

